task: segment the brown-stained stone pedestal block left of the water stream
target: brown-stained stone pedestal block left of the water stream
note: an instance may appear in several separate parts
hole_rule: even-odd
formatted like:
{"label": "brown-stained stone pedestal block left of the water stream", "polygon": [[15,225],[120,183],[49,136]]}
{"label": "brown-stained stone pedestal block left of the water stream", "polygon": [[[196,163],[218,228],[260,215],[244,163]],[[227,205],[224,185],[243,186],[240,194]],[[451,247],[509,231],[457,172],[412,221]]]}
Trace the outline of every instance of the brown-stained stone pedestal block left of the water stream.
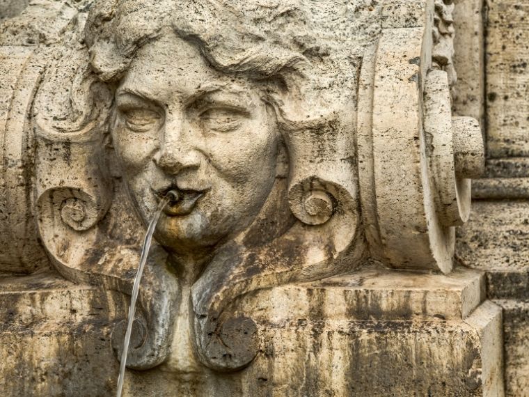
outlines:
{"label": "brown-stained stone pedestal block left of the water stream", "polygon": [[109,341],[123,295],[38,272],[0,279],[0,394],[111,396]]}

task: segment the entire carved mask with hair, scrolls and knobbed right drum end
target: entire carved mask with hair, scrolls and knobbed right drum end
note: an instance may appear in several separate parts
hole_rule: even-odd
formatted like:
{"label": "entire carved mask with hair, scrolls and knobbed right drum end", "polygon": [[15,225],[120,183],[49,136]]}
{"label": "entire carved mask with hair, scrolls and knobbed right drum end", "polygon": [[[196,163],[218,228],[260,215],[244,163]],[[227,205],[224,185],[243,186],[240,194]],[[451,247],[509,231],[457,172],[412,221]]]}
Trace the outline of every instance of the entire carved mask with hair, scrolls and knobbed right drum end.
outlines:
{"label": "entire carved mask with hair, scrolls and knobbed right drum end", "polygon": [[42,72],[35,211],[13,213],[35,218],[31,247],[66,278],[129,294],[143,226],[182,194],[157,227],[132,368],[170,355],[186,283],[198,358],[232,371],[258,352],[237,311],[253,290],[369,258],[450,272],[483,156],[431,68],[450,65],[432,61],[442,19],[432,6],[401,29],[401,8],[346,3],[101,0],[27,77]]}

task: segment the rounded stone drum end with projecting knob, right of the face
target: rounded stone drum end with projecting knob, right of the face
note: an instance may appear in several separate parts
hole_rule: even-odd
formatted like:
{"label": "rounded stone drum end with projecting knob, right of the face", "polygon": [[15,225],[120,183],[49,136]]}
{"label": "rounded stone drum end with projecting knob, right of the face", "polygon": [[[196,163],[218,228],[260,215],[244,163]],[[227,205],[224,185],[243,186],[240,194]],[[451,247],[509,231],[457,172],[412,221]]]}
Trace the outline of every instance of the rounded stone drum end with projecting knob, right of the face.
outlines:
{"label": "rounded stone drum end with projecting knob, right of the face", "polygon": [[361,70],[363,224],[375,260],[448,273],[455,226],[470,213],[470,178],[483,171],[482,137],[477,121],[452,117],[455,74],[449,78],[444,64],[435,63],[439,45],[432,32],[439,10],[433,2],[411,1],[410,7],[420,12],[415,20],[406,20],[398,4],[385,4],[381,36],[366,49]]}

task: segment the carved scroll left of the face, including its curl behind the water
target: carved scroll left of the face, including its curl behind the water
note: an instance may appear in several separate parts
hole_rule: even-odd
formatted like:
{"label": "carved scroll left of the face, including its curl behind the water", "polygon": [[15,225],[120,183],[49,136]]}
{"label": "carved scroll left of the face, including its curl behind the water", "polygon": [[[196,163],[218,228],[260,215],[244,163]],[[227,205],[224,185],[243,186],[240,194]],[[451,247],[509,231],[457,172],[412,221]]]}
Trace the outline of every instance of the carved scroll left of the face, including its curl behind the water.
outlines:
{"label": "carved scroll left of the face, including its curl behind the water", "polygon": [[[70,41],[61,44],[63,53],[52,59],[35,94],[33,125],[26,132],[37,143],[32,193],[38,233],[63,277],[130,295],[141,245],[135,232],[142,227],[129,216],[123,187],[107,162],[112,97],[89,69],[88,51],[76,36],[83,32],[84,15],[78,19],[81,27],[72,24],[74,31],[66,34]],[[164,266],[166,252],[157,248],[161,254],[153,256],[161,264],[145,271],[134,328],[137,343],[127,358],[136,369],[161,364],[171,348],[178,285]],[[122,328],[113,333],[116,352],[123,343]]]}

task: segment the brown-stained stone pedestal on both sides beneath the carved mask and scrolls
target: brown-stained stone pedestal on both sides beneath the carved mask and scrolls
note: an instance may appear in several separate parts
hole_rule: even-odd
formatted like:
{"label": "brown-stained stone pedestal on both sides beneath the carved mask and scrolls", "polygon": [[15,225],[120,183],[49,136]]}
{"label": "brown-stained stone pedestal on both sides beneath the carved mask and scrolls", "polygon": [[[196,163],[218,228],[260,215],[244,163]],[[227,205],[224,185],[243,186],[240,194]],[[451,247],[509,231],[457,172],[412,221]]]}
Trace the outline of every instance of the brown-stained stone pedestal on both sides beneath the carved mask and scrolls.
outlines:
{"label": "brown-stained stone pedestal on both sides beneath the carved mask and scrolls", "polygon": [[[111,396],[116,293],[52,275],[2,281],[2,396]],[[239,373],[127,371],[127,396],[503,396],[501,310],[484,277],[365,269],[261,290],[260,352]],[[9,304],[8,304],[9,302]],[[514,338],[514,336],[511,336]],[[22,393],[22,394],[21,394]]]}

